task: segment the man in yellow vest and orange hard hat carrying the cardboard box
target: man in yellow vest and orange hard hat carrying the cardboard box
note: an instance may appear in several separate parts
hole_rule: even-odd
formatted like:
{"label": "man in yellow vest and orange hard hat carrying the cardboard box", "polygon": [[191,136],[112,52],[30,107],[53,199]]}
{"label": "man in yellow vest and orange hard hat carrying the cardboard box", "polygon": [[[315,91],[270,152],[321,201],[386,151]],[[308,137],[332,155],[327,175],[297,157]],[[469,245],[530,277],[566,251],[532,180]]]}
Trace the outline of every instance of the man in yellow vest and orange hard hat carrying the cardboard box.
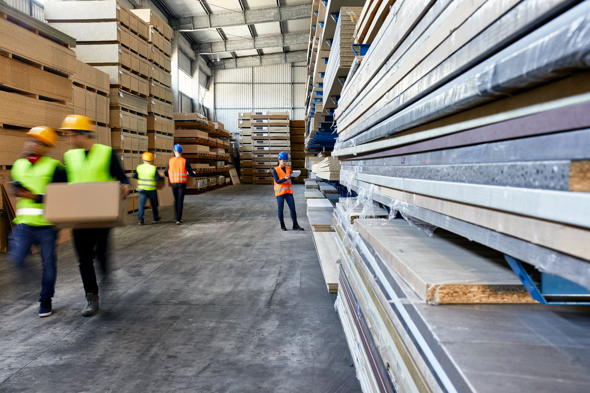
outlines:
{"label": "man in yellow vest and orange hard hat carrying the cardboard box", "polygon": [[[76,148],[64,154],[65,172],[68,183],[87,181],[121,182],[123,197],[129,194],[129,180],[123,173],[113,149],[96,143],[94,122],[83,115],[67,115],[60,128],[72,136]],[[86,293],[86,307],[83,316],[94,315],[99,309],[99,287],[94,272],[94,257],[99,260],[103,279],[107,275],[107,246],[110,228],[74,229],[74,246],[78,253],[80,275]]]}

